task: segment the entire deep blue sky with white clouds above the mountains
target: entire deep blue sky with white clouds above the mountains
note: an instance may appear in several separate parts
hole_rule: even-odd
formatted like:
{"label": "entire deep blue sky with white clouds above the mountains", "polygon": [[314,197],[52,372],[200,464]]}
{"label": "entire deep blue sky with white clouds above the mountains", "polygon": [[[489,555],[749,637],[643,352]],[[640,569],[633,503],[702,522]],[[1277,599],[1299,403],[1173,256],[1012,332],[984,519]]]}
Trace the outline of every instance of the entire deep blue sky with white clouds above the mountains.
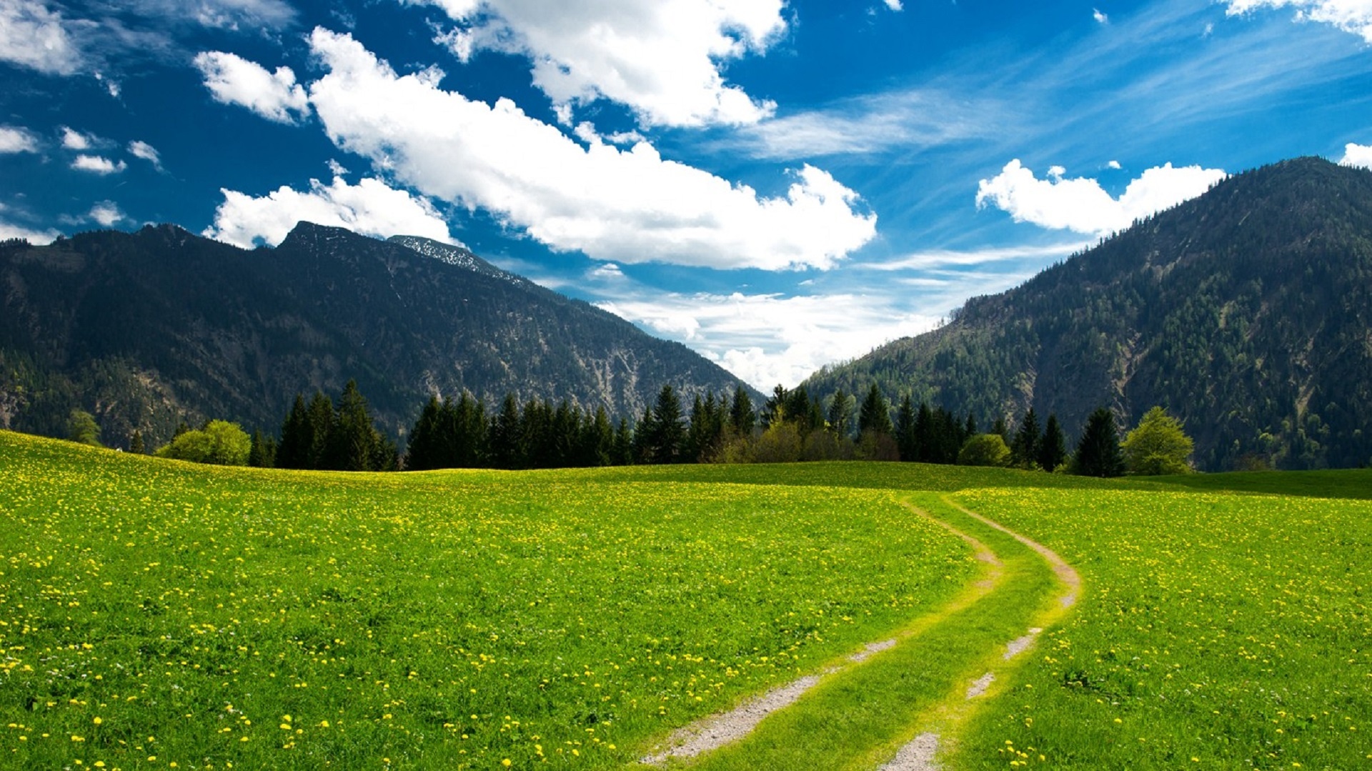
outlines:
{"label": "entire deep blue sky with white clouds above the mountains", "polygon": [[0,0],[0,237],[424,235],[770,390],[1227,173],[1372,165],[1369,43],[1369,0]]}

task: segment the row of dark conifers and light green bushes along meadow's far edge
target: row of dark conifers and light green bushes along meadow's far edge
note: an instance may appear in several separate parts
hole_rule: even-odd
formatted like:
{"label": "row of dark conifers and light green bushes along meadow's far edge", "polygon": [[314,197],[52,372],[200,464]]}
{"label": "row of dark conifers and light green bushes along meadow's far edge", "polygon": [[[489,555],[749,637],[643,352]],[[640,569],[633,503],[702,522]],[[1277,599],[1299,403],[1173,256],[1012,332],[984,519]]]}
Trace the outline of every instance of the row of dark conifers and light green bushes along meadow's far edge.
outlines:
{"label": "row of dark conifers and light green bushes along meadow's far edge", "polygon": [[[80,417],[80,416],[78,416]],[[80,421],[73,423],[81,428]],[[873,384],[862,402],[837,391],[811,396],[804,386],[778,386],[755,407],[740,386],[733,394],[696,394],[689,409],[671,386],[637,421],[612,421],[604,407],[582,409],[567,401],[508,394],[497,410],[462,392],[456,399],[429,396],[414,421],[403,453],[376,429],[366,399],[348,381],[338,399],[317,391],[296,394],[281,424],[280,439],[254,431],[235,458],[221,447],[237,446],[235,424],[210,421],[181,432],[159,450],[200,462],[247,462],[254,466],[333,471],[428,471],[443,468],[538,469],[691,462],[792,462],[875,460],[925,464],[1011,466],[1088,476],[1185,473],[1192,449],[1181,424],[1161,407],[1150,410],[1121,442],[1114,414],[1095,410],[1073,451],[1056,416],[1040,423],[1033,407],[1014,432],[997,416],[982,432],[977,416],[958,414],[910,394],[892,407]],[[78,431],[73,429],[73,435]],[[222,436],[222,439],[220,439]],[[169,451],[170,450],[170,451]],[[241,454],[241,455],[240,455]]]}

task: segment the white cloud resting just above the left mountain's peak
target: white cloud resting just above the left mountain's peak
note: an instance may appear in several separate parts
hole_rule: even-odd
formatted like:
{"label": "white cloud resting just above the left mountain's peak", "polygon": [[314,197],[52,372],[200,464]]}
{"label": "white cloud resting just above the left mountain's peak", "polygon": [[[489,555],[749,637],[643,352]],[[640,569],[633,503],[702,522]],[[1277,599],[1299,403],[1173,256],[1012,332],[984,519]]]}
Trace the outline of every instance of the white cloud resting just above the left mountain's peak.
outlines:
{"label": "white cloud resting just above the left mountain's peak", "polygon": [[432,203],[376,178],[364,178],[355,185],[342,177],[333,177],[328,185],[310,180],[306,192],[281,185],[261,198],[229,189],[221,192],[224,203],[214,211],[214,225],[204,236],[243,248],[258,243],[276,246],[300,221],[347,228],[365,236],[424,236],[454,243],[447,222]]}

